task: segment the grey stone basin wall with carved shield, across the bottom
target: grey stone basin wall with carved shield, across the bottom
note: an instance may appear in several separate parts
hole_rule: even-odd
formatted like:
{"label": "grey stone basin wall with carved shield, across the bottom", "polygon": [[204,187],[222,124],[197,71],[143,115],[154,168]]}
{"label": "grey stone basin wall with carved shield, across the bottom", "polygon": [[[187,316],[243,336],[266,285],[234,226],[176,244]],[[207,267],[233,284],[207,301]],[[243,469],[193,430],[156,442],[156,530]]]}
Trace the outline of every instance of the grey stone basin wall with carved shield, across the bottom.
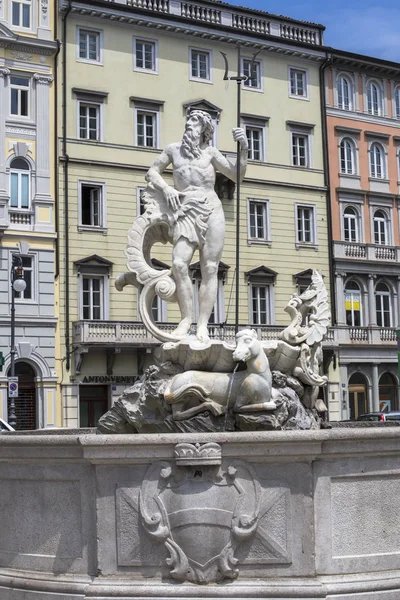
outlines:
{"label": "grey stone basin wall with carved shield, across the bottom", "polygon": [[0,597],[394,600],[399,441],[2,434]]}

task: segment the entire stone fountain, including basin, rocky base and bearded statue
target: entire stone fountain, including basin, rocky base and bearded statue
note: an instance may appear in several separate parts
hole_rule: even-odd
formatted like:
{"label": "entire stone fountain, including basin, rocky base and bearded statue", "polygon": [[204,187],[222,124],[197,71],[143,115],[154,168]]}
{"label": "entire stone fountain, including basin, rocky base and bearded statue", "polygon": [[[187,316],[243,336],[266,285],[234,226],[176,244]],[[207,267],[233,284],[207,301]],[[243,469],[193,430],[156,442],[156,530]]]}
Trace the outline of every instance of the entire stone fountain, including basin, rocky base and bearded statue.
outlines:
{"label": "entire stone fountain, including basin, rocky base and bearded statue", "polygon": [[[193,112],[150,169],[116,282],[140,289],[163,342],[155,364],[98,435],[0,436],[1,600],[399,598],[400,429],[321,429],[321,275],[289,300],[279,340],[208,337],[224,234],[215,170],[235,179],[211,135]],[[240,129],[234,138],[243,177],[247,142]],[[175,188],[162,178],[171,163]],[[156,241],[172,242],[171,271],[152,268]],[[155,294],[179,303],[171,335],[152,319]]]}

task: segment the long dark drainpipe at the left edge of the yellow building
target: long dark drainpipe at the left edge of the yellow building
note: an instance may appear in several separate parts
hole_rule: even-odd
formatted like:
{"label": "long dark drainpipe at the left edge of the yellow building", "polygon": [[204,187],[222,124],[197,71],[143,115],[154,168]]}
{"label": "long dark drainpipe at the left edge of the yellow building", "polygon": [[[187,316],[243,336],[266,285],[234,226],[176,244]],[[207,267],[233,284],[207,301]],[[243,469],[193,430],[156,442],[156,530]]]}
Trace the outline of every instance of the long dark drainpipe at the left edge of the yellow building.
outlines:
{"label": "long dark drainpipe at the left edge of the yellow building", "polygon": [[70,322],[69,322],[69,219],[68,219],[68,163],[67,154],[67,17],[71,12],[72,0],[63,20],[63,68],[62,68],[62,157],[64,159],[64,268],[65,268],[65,368],[70,369]]}

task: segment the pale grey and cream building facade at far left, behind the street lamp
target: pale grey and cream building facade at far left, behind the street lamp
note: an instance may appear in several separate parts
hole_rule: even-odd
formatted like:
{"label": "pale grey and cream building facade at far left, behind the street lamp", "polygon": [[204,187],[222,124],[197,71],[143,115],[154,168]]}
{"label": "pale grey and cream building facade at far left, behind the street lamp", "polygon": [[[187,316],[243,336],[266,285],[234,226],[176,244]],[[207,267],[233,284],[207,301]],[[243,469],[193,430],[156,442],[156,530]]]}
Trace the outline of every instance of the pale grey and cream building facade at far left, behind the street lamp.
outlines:
{"label": "pale grey and cream building facade at far left, behind the street lamp", "polygon": [[0,3],[0,416],[8,418],[11,268],[16,293],[17,429],[61,424],[55,356],[55,7],[44,0]]}

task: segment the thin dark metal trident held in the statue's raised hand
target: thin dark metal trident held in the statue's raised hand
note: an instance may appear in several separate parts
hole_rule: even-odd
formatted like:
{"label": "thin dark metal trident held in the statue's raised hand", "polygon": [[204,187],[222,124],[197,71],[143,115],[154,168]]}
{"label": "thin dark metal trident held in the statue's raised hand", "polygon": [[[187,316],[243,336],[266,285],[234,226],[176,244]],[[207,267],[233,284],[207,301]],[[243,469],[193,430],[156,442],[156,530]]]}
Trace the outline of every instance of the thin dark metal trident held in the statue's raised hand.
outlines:
{"label": "thin dark metal trident held in the statue's raised hand", "polygon": [[[253,78],[255,60],[257,55],[261,52],[259,50],[253,54],[252,61],[250,63],[249,75],[242,75],[242,65],[240,56],[240,44],[237,44],[237,74],[229,76],[229,64],[228,58],[225,52],[221,52],[225,62],[225,74],[224,81],[236,81],[237,83],[237,119],[236,126],[241,126],[241,91],[242,82]],[[235,333],[239,330],[239,235],[240,235],[240,143],[237,143],[236,147],[236,308],[235,308]]]}

